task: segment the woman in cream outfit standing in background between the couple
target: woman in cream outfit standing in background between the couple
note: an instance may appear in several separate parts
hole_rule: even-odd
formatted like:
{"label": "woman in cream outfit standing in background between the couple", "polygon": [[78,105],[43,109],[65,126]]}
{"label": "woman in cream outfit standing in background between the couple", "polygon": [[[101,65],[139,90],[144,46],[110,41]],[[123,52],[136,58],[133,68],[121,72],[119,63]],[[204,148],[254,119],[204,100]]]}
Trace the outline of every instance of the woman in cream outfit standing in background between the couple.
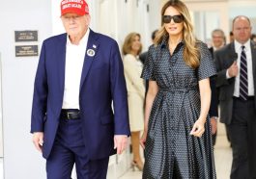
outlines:
{"label": "woman in cream outfit standing in background between the couple", "polygon": [[140,78],[142,63],[138,59],[142,45],[138,33],[130,33],[123,45],[124,69],[128,89],[128,119],[131,131],[131,149],[133,160],[131,165],[139,170],[143,169],[143,162],[140,156],[139,139],[140,132],[144,129],[144,101],[145,86]]}

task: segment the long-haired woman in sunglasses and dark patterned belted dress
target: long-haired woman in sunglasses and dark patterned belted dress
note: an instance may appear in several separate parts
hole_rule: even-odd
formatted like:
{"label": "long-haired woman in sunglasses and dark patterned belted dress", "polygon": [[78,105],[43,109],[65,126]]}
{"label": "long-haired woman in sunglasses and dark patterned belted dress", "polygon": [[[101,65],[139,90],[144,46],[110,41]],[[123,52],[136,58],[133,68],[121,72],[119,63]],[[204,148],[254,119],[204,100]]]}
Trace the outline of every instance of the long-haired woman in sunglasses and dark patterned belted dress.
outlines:
{"label": "long-haired woman in sunglasses and dark patterned belted dress", "polygon": [[141,138],[143,178],[215,179],[208,115],[213,59],[194,37],[183,2],[166,2],[161,16],[142,72],[150,80]]}

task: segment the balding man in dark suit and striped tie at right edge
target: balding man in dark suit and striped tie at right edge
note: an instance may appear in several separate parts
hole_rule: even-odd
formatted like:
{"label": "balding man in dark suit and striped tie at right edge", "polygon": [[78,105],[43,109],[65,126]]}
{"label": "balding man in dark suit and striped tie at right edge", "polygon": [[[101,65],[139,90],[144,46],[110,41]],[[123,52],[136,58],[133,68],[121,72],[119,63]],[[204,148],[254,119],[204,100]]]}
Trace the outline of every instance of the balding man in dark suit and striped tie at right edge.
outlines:
{"label": "balding man in dark suit and striped tie at right edge", "polygon": [[233,20],[235,41],[214,53],[220,121],[227,125],[233,149],[231,179],[256,178],[256,44],[248,17]]}

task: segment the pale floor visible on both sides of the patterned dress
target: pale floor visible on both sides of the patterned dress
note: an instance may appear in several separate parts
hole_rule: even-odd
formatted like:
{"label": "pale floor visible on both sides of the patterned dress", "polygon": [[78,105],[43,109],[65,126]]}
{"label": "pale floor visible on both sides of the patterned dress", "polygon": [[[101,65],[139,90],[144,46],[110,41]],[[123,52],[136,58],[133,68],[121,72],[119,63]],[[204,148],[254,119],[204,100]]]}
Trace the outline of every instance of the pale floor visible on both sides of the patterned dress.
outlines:
{"label": "pale floor visible on both sides of the patterned dress", "polygon": [[[218,124],[217,141],[214,146],[214,158],[216,174],[218,179],[229,179],[229,173],[232,163],[232,151],[227,141],[225,127]],[[120,179],[141,179],[142,172],[128,170]]]}

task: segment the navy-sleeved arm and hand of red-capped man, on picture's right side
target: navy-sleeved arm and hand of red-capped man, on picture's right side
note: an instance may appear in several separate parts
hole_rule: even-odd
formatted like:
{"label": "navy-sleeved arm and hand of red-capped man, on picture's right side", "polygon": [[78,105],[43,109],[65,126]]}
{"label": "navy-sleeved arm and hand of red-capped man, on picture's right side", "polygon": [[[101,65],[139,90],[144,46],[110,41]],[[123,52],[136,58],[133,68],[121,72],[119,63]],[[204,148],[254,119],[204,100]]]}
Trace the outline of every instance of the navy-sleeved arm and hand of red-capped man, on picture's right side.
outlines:
{"label": "navy-sleeved arm and hand of red-capped man, on picture's right side", "polygon": [[128,124],[128,91],[124,75],[124,66],[119,52],[119,47],[115,41],[111,47],[111,93],[114,106],[114,148],[117,154],[121,154],[128,145],[130,135]]}

